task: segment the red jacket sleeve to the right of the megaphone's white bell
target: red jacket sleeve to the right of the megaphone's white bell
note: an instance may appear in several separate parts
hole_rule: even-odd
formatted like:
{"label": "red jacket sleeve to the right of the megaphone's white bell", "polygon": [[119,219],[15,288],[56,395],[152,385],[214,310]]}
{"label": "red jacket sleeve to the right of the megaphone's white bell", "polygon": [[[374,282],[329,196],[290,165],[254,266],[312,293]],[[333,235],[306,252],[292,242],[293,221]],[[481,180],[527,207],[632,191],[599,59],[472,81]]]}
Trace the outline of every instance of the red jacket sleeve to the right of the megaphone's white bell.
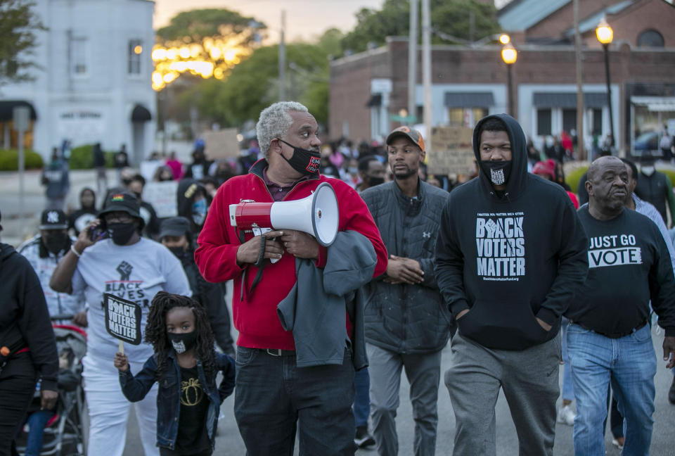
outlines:
{"label": "red jacket sleeve to the right of the megaphone's white bell", "polygon": [[[373,216],[361,196],[344,182],[338,182],[340,184],[333,184],[333,188],[340,202],[339,229],[340,231],[352,229],[371,240],[373,248],[375,248],[375,254],[378,255],[378,264],[375,265],[373,277],[378,277],[387,270],[387,248],[382,241],[382,237],[380,237],[378,225],[375,224],[375,220],[373,220]],[[319,261],[321,261],[321,253],[319,254]]]}

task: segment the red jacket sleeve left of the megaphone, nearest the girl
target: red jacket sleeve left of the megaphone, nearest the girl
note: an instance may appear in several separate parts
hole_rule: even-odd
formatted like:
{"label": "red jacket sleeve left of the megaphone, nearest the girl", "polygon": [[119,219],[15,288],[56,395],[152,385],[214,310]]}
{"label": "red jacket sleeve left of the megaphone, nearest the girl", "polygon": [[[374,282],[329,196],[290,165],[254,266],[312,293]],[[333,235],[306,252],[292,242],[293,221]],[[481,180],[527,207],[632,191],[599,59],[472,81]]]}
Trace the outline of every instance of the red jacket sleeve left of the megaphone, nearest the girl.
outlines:
{"label": "red jacket sleeve left of the megaphone, nearest the girl", "polygon": [[243,270],[237,265],[237,249],[240,242],[229,224],[227,194],[230,186],[226,184],[221,185],[213,198],[197,240],[199,247],[195,251],[195,262],[199,272],[210,282],[233,279]]}

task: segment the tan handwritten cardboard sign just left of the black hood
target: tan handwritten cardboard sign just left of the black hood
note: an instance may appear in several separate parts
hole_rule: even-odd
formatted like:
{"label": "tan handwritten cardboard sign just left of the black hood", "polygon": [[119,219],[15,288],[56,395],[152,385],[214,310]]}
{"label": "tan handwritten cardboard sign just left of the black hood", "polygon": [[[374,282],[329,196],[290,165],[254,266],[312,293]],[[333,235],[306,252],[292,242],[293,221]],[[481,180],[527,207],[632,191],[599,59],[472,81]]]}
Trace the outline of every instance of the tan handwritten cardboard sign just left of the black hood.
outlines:
{"label": "tan handwritten cardboard sign just left of the black hood", "polygon": [[475,156],[472,139],[473,129],[468,127],[432,128],[432,150],[427,151],[429,174],[473,174]]}

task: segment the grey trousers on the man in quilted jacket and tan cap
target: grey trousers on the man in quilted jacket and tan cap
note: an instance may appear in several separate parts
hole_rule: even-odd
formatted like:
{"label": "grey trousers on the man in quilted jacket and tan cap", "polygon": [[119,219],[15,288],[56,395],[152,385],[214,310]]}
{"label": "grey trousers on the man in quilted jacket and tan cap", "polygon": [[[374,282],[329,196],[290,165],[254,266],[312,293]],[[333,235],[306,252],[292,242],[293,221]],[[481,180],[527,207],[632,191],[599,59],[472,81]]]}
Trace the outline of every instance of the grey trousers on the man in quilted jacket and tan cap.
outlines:
{"label": "grey trousers on the man in quilted jacket and tan cap", "polygon": [[[378,453],[383,456],[395,456],[399,453],[394,418],[399,407],[401,367],[404,367],[410,383],[410,400],[415,420],[414,454],[434,455],[441,350],[401,355],[370,343],[366,343],[366,350],[368,374],[371,376],[371,419]],[[406,454],[409,454],[408,450]]]}

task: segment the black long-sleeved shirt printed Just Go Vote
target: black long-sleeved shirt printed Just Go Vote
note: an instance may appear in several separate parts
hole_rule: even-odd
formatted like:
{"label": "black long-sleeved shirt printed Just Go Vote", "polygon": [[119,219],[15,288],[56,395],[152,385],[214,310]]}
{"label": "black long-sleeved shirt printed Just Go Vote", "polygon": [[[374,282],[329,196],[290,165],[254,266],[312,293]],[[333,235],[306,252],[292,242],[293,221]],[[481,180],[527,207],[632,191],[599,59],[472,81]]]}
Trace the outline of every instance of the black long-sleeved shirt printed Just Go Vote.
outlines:
{"label": "black long-sleeved shirt printed Just Go Vote", "polygon": [[567,317],[601,334],[624,334],[647,321],[651,299],[659,325],[675,331],[675,277],[656,224],[633,210],[597,220],[584,205],[578,214],[589,238],[589,275]]}

